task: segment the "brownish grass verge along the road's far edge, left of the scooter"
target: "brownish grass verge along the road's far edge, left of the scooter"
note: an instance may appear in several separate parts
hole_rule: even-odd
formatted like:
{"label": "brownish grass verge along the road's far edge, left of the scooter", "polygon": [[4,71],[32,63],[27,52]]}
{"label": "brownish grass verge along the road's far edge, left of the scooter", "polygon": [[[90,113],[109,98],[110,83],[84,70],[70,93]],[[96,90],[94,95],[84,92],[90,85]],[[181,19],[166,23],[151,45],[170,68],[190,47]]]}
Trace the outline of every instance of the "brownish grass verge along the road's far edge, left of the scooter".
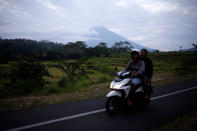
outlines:
{"label": "brownish grass verge along the road's far edge, left of the scooter", "polygon": [[[8,110],[21,110],[25,108],[45,106],[49,104],[80,101],[101,97],[104,96],[110,90],[108,87],[109,83],[110,82],[98,83],[91,85],[87,88],[80,89],[78,91],[69,91],[66,93],[65,90],[62,90],[62,92],[58,92],[55,94],[53,93],[50,95],[41,94],[34,96],[0,99],[0,112]],[[52,90],[54,88],[55,87],[50,87],[49,90]],[[59,88],[57,90],[59,90]]]}

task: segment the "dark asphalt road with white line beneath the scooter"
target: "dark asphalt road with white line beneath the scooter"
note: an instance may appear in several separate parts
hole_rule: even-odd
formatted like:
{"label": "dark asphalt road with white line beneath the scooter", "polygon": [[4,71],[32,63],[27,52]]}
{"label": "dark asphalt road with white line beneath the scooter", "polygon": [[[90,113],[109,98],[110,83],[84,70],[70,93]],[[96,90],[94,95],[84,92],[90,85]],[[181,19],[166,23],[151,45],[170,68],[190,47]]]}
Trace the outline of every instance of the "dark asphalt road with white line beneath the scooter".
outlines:
{"label": "dark asphalt road with white line beneath the scooter", "polygon": [[0,113],[0,130],[78,131],[149,130],[197,109],[197,81],[155,87],[146,109],[131,108],[116,116],[105,111],[105,97]]}

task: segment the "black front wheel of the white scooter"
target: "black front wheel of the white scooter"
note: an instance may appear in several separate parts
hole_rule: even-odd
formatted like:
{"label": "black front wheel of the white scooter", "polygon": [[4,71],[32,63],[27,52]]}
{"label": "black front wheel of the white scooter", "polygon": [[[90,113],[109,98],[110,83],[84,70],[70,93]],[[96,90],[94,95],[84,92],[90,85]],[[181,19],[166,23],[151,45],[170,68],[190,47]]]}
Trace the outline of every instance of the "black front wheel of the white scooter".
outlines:
{"label": "black front wheel of the white scooter", "polygon": [[120,111],[120,98],[118,96],[109,97],[106,102],[106,111],[114,115]]}

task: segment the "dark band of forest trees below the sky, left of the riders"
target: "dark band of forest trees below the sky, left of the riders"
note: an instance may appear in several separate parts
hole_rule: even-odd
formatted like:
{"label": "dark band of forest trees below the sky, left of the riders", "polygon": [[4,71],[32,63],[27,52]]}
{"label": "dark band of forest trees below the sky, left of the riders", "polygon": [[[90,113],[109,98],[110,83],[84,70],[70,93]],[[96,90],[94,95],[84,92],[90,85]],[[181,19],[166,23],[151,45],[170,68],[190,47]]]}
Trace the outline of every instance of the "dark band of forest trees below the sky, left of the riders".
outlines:
{"label": "dark band of forest trees below the sky, left of the riders", "polygon": [[1,39],[0,63],[16,60],[67,60],[83,57],[108,57],[111,54],[128,52],[132,48],[129,42],[115,43],[108,48],[106,43],[96,47],[87,47],[83,41],[69,42],[66,45],[50,41],[28,39]]}

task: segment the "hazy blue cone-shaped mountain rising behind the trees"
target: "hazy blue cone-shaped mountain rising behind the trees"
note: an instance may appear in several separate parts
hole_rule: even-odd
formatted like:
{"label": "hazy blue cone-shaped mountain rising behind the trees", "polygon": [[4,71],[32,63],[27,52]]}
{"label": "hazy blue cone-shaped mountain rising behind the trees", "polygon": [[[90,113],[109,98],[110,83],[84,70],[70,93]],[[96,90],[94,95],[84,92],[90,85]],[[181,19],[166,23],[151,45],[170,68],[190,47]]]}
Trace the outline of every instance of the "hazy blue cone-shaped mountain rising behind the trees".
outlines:
{"label": "hazy blue cone-shaped mountain rising behind the trees", "polygon": [[112,47],[115,42],[127,41],[131,43],[131,45],[134,48],[137,48],[137,49],[146,48],[149,51],[154,51],[154,49],[150,49],[148,47],[137,44],[134,41],[128,40],[127,38],[124,38],[108,30],[106,27],[103,27],[103,26],[92,27],[89,29],[89,32],[90,33],[86,35],[86,37],[88,37],[88,40],[86,40],[85,42],[88,46],[91,46],[91,47],[98,45],[100,42],[105,42],[107,43],[108,47]]}

